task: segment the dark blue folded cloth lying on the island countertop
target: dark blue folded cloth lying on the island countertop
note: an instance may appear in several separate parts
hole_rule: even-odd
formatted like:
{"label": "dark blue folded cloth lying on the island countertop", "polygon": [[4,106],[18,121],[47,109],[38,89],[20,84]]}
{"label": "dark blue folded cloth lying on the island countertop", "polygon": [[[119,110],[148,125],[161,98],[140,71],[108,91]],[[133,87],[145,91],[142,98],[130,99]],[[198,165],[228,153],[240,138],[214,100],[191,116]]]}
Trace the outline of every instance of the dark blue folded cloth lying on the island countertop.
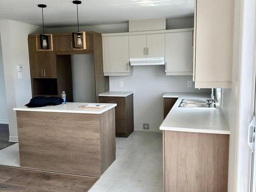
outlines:
{"label": "dark blue folded cloth lying on the island countertop", "polygon": [[62,103],[62,99],[60,97],[42,97],[42,96],[36,96],[30,99],[30,102],[26,104],[25,106],[28,106],[29,108],[38,108],[41,106],[47,106],[47,105],[58,105]]}

